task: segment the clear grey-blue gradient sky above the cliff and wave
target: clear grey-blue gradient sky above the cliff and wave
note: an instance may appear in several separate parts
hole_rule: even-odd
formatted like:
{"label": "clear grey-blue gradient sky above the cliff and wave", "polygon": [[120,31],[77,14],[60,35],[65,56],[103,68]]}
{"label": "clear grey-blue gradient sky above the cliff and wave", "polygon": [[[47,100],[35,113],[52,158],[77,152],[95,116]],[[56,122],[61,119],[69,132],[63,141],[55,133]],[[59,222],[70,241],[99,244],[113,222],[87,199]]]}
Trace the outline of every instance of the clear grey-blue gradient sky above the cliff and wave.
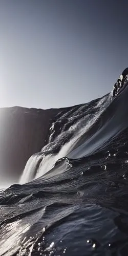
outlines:
{"label": "clear grey-blue gradient sky above the cliff and wave", "polygon": [[0,106],[59,108],[128,66],[127,0],[0,0]]}

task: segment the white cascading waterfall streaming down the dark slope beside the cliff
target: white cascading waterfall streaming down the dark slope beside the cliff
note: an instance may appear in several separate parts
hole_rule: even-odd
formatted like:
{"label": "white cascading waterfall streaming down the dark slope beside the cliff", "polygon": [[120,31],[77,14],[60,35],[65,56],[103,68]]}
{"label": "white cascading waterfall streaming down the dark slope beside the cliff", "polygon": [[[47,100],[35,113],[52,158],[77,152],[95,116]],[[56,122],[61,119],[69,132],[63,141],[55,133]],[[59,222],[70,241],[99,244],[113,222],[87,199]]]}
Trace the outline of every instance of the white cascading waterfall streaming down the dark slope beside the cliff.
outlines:
{"label": "white cascading waterfall streaming down the dark slope beside the cliff", "polygon": [[[111,95],[104,96],[94,104],[95,114],[89,114],[89,106],[85,108],[85,105],[79,106],[75,111],[69,111],[62,115],[56,122],[53,122],[50,127],[49,143],[44,146],[39,153],[40,155],[31,156],[28,160],[23,175],[19,181],[19,184],[23,184],[36,179],[46,174],[51,168],[53,168],[56,161],[60,158],[66,157],[72,150],[75,142],[86,133],[90,127],[96,122],[102,112],[111,102]],[[80,118],[81,113],[81,118]],[[66,122],[63,123],[65,118]],[[70,123],[67,127],[67,120]],[[76,120],[76,122],[75,122]],[[60,133],[56,133],[56,126],[58,123],[60,126]],[[74,123],[72,125],[72,123]],[[56,125],[57,123],[57,125]],[[68,138],[68,141],[66,141]],[[65,143],[63,143],[65,142]],[[38,167],[37,167],[38,166]]]}

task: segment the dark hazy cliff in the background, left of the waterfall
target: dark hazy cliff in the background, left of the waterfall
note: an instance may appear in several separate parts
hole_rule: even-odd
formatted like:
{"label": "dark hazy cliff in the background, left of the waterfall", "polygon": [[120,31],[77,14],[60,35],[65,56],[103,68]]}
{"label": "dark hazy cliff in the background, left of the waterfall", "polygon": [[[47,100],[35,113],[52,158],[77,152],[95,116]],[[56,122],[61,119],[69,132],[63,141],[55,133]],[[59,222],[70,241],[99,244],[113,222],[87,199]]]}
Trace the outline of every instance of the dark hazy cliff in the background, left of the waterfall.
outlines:
{"label": "dark hazy cliff in the background, left of the waterfall", "polygon": [[60,110],[0,109],[0,168],[5,177],[18,179],[27,160],[46,144],[50,124]]}

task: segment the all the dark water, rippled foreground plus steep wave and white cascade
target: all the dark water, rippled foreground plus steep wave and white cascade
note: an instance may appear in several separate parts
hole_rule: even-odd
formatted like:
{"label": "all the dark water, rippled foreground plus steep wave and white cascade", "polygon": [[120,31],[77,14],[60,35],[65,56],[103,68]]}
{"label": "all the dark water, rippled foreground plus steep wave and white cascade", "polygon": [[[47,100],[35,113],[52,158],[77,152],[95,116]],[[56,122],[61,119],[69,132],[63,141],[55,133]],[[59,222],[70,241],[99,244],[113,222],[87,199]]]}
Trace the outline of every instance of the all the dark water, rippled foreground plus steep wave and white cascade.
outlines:
{"label": "all the dark water, rippled foreground plus steep wave and white cascade", "polygon": [[127,255],[127,77],[58,111],[19,184],[1,189],[0,255]]}

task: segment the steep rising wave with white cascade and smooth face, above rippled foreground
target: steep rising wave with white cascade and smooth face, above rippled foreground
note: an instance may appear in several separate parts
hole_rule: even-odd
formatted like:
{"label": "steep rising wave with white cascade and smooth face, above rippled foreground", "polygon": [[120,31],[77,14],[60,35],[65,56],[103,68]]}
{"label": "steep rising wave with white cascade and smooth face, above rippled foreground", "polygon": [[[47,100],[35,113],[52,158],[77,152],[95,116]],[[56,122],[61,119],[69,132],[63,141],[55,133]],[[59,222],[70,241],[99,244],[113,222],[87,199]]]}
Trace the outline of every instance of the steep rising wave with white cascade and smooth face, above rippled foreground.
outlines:
{"label": "steep rising wave with white cascade and smooth face, above rippled foreground", "polygon": [[[127,84],[127,73],[127,69],[123,71],[110,94],[75,106],[64,114],[59,113],[49,129],[48,144],[28,160],[20,184],[44,175],[60,158],[81,158],[94,153],[127,127],[127,108],[122,106],[118,95],[124,93],[122,97],[126,101],[127,87],[125,92],[123,90]],[[38,154],[41,155],[41,161]]]}

